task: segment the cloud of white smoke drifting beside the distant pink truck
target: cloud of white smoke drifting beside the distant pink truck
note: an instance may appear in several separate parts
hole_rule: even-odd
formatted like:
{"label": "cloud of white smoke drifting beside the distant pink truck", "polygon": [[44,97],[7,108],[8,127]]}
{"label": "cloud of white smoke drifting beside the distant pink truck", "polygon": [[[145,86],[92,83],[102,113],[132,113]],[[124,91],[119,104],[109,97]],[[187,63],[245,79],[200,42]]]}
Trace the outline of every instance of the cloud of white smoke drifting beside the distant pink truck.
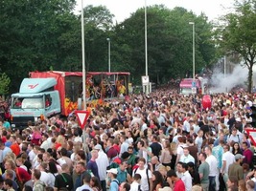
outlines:
{"label": "cloud of white smoke drifting beside the distant pink truck", "polygon": [[226,93],[236,86],[245,86],[247,81],[248,69],[241,65],[234,65],[234,69],[230,74],[223,74],[220,69],[215,69],[212,74],[211,93]]}

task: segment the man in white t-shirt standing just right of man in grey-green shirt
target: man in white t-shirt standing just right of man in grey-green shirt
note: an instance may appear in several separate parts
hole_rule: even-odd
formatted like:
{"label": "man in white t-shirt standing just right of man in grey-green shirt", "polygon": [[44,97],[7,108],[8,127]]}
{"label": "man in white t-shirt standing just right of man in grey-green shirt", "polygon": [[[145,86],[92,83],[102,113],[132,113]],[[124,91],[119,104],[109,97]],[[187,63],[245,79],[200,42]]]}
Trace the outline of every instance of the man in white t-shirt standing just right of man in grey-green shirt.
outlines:
{"label": "man in white t-shirt standing just right of man in grey-green shirt", "polygon": [[212,155],[212,149],[209,146],[206,146],[204,149],[205,154],[207,155],[207,158],[205,161],[210,166],[210,173],[209,173],[209,191],[215,191],[216,190],[216,176],[218,175],[218,162],[217,159]]}

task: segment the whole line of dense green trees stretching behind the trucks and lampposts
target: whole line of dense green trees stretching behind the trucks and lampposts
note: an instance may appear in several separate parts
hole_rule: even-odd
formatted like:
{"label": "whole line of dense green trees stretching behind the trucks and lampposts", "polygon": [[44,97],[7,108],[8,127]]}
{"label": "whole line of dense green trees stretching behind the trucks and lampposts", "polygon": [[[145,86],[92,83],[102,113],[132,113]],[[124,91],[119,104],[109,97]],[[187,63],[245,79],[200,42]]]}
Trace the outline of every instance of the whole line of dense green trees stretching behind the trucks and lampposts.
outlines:
{"label": "whole line of dense green trees stretching behind the trucks and lampposts", "polygon": [[[75,3],[75,0],[0,0],[0,73],[11,78],[11,93],[18,91],[22,78],[31,71],[50,68],[81,71],[81,15],[73,13]],[[111,71],[129,72],[131,82],[140,84],[141,75],[145,74],[144,8],[122,23],[114,23],[114,15],[104,6],[88,6],[83,11],[86,71],[107,71],[106,38],[110,38]],[[217,38],[213,36],[221,36],[223,31],[213,33],[214,25],[205,14],[196,15],[178,7],[170,10],[163,5],[148,7],[147,11],[152,82],[161,84],[171,78],[192,75],[189,22],[195,22],[196,27],[196,72],[215,63]],[[255,19],[255,12],[253,15]],[[224,47],[221,41],[218,45]]]}

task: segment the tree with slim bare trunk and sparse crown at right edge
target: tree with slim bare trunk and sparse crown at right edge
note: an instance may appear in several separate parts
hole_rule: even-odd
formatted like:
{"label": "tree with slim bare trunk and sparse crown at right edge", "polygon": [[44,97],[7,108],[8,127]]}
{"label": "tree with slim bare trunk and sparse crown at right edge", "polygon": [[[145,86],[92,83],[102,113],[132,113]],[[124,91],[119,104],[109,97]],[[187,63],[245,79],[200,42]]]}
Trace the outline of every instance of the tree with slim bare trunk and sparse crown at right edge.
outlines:
{"label": "tree with slim bare trunk and sparse crown at right edge", "polygon": [[238,54],[248,69],[248,92],[252,90],[253,65],[256,62],[256,1],[236,1],[235,11],[224,15],[216,30],[222,54]]}

